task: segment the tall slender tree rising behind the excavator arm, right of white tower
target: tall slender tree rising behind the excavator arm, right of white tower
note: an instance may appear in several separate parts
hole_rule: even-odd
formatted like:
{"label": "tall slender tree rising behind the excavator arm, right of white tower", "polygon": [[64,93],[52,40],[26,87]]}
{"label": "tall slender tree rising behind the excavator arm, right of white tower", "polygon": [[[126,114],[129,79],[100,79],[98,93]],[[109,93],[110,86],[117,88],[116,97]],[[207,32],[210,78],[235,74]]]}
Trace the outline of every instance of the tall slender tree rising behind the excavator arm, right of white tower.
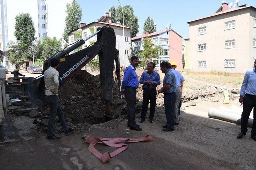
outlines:
{"label": "tall slender tree rising behind the excavator arm, right of white tower", "polygon": [[79,27],[80,21],[82,19],[82,9],[74,0],[71,2],[71,4],[67,4],[66,7],[66,27],[64,29],[63,37],[64,40],[68,43],[68,33]]}

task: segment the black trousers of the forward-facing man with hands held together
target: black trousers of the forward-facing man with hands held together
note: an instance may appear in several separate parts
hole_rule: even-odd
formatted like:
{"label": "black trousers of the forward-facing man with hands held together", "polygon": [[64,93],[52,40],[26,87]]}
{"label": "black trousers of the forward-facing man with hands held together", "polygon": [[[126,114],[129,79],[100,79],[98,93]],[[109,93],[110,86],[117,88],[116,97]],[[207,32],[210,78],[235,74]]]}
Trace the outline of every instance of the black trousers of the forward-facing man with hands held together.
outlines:
{"label": "black trousers of the forward-facing man with hands held together", "polygon": [[156,110],[156,88],[151,89],[143,89],[143,100],[142,100],[142,111],[140,114],[140,118],[145,120],[148,103],[150,101],[150,111],[149,111],[149,119],[153,120]]}

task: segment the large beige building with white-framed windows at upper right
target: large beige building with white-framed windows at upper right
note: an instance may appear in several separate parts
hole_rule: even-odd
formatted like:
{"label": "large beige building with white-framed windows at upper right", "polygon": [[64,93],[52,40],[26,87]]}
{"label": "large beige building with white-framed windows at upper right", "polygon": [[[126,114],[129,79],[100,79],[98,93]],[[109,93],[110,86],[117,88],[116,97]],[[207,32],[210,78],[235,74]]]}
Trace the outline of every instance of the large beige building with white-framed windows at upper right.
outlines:
{"label": "large beige building with white-framed windows at upper right", "polygon": [[[189,57],[186,68],[198,72],[245,72],[256,59],[256,8],[220,9],[189,21]],[[187,59],[187,58],[186,58]]]}

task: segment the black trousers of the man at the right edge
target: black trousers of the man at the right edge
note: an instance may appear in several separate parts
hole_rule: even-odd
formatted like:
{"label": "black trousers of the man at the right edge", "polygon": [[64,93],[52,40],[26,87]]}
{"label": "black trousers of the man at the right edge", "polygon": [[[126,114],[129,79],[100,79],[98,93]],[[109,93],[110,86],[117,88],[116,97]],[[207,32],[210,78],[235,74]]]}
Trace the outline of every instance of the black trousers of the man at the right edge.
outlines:
{"label": "black trousers of the man at the right edge", "polygon": [[241,116],[241,132],[247,132],[247,124],[250,113],[253,109],[253,123],[251,134],[256,135],[256,96],[245,94],[243,99],[243,112]]}

